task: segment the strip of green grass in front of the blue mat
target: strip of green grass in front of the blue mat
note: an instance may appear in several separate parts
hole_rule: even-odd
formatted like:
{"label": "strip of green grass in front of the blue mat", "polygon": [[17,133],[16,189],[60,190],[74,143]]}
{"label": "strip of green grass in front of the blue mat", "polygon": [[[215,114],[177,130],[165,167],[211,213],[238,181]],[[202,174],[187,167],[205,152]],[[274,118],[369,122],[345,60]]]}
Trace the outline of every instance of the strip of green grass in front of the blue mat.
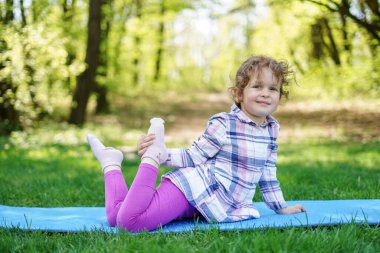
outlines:
{"label": "strip of green grass in front of the blue mat", "polygon": [[378,252],[380,236],[379,228],[364,225],[137,236],[0,232],[1,252]]}

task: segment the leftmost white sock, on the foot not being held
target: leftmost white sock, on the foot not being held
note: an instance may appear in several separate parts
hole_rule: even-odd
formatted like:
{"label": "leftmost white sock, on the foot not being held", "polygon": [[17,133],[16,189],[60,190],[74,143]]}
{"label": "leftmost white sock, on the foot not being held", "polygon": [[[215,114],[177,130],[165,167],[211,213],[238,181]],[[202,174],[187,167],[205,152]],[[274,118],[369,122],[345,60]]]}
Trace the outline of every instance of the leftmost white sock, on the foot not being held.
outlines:
{"label": "leftmost white sock, on the foot not being held", "polygon": [[111,170],[121,170],[123,153],[120,150],[105,147],[95,135],[87,135],[91,150],[98,159],[104,173]]}

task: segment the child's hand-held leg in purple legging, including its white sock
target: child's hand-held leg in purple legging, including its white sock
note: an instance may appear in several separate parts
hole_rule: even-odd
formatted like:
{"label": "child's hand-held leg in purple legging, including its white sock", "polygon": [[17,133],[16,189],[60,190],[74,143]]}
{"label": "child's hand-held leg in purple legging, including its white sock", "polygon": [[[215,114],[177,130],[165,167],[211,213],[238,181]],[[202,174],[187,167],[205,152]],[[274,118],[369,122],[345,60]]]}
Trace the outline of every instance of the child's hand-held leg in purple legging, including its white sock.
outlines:
{"label": "child's hand-held leg in purple legging, including its white sock", "polygon": [[167,159],[164,141],[164,121],[153,118],[148,133],[156,139],[142,156],[136,177],[128,195],[121,204],[117,225],[129,231],[153,230],[193,209],[182,192],[170,181],[164,181],[156,190],[158,166]]}

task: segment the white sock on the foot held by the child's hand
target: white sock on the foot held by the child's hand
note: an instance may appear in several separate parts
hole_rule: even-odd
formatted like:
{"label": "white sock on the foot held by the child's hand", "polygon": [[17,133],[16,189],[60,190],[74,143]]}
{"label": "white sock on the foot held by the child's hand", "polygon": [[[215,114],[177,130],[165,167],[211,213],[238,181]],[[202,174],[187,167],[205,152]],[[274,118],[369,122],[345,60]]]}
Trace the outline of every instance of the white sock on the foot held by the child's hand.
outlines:
{"label": "white sock on the foot held by the child's hand", "polygon": [[168,159],[168,152],[165,146],[164,120],[161,118],[151,119],[148,134],[150,133],[154,133],[156,138],[153,144],[146,150],[142,158],[149,157],[160,165]]}

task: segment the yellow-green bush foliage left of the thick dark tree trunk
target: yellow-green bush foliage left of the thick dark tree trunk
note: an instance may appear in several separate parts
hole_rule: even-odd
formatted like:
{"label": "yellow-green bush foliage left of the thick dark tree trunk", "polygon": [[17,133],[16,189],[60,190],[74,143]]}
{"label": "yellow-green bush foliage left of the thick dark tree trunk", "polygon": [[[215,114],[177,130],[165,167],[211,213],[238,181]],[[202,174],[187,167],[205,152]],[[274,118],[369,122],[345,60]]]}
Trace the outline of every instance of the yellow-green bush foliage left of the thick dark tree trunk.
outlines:
{"label": "yellow-green bush foliage left of the thick dark tree trunk", "polygon": [[[50,18],[46,17],[47,23]],[[0,80],[15,87],[5,96],[11,99],[26,127],[46,115],[59,118],[67,113],[60,110],[70,102],[69,82],[84,66],[78,60],[66,64],[66,39],[62,34],[62,30],[44,23],[23,28],[6,26],[1,31],[6,46],[0,52],[0,60],[5,63]]]}

